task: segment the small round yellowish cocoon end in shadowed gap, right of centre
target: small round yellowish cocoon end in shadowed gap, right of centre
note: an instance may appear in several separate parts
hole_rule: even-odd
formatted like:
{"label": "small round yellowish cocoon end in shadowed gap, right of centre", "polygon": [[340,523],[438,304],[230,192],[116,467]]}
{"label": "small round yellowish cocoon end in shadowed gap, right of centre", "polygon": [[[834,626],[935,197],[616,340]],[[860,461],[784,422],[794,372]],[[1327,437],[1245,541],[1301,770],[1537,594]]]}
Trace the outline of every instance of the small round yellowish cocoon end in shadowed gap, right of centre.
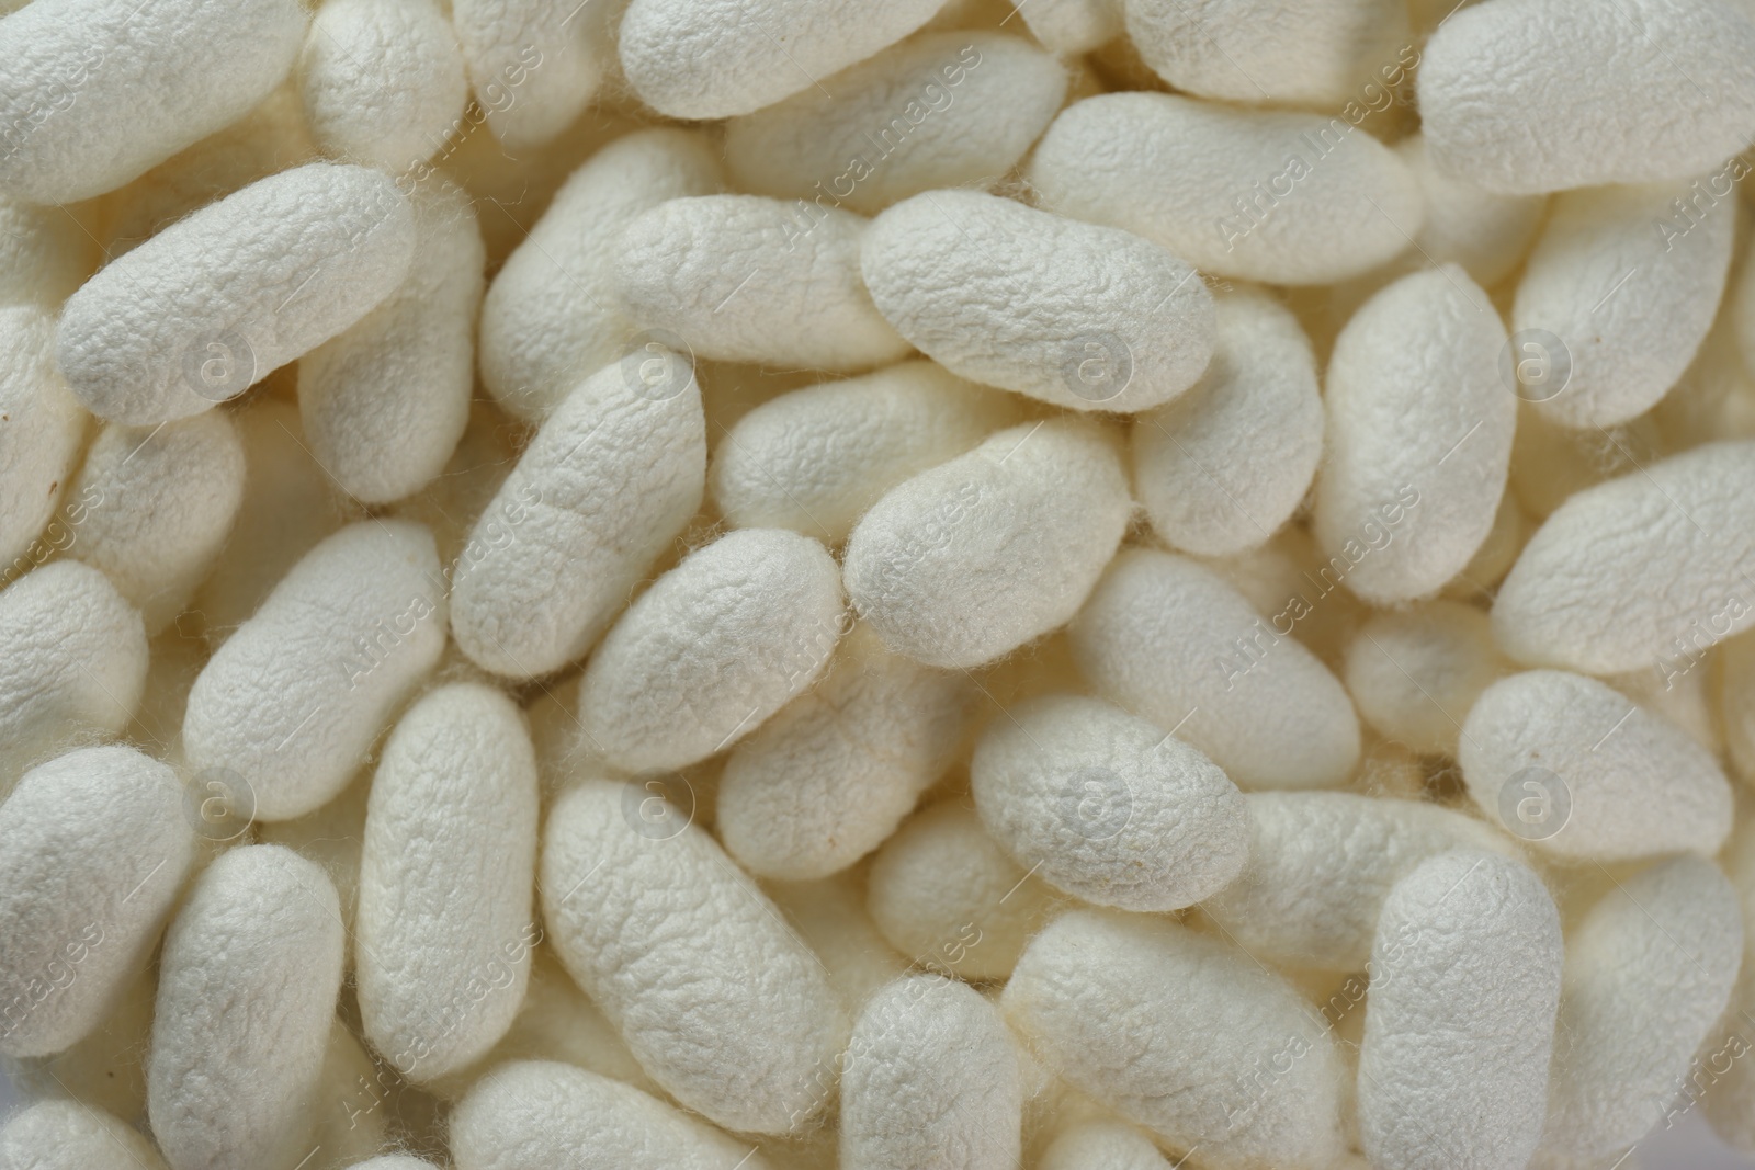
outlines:
{"label": "small round yellowish cocoon end in shadowed gap, right of centre", "polygon": [[1360,626],[1346,651],[1346,691],[1379,735],[1455,756],[1469,709],[1506,670],[1486,614],[1439,600]]}

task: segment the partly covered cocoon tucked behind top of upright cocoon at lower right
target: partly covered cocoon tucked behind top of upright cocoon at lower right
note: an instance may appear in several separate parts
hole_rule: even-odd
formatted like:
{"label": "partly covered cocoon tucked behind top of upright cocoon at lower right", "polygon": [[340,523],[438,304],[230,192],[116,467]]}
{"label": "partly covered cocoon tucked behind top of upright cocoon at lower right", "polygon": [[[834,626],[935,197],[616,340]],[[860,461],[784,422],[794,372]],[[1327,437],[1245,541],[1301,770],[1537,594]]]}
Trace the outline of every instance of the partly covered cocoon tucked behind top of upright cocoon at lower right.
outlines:
{"label": "partly covered cocoon tucked behind top of upright cocoon at lower right", "polygon": [[1423,800],[1353,793],[1250,793],[1250,860],[1202,903],[1250,954],[1362,970],[1397,881],[1450,849],[1511,853],[1471,816]]}

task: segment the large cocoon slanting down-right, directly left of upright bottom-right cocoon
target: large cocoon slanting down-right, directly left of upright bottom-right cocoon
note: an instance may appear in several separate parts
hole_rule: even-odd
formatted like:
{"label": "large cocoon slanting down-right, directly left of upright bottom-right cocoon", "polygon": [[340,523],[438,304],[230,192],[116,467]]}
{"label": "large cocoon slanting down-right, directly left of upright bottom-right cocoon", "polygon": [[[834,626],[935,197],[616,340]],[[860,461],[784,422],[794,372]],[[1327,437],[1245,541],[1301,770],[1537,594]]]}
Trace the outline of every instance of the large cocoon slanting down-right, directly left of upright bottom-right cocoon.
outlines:
{"label": "large cocoon slanting down-right, directly left of upright bottom-right cocoon", "polygon": [[1071,910],[1030,940],[1000,1003],[1062,1079],[1214,1168],[1325,1166],[1344,1147],[1334,1040],[1218,938]]}

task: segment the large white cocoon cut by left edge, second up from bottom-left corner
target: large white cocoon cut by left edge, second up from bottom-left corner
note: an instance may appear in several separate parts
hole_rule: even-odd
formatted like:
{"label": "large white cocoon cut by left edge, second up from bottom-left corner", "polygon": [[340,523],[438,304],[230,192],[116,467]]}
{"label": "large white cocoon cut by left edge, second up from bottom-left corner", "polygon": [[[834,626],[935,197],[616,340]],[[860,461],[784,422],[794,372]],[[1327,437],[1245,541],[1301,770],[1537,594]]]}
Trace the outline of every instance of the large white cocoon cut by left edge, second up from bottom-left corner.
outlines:
{"label": "large white cocoon cut by left edge, second up from bottom-left corner", "polygon": [[0,1052],[60,1052],[104,1019],[193,856],[176,774],[132,747],[25,774],[0,805]]}

